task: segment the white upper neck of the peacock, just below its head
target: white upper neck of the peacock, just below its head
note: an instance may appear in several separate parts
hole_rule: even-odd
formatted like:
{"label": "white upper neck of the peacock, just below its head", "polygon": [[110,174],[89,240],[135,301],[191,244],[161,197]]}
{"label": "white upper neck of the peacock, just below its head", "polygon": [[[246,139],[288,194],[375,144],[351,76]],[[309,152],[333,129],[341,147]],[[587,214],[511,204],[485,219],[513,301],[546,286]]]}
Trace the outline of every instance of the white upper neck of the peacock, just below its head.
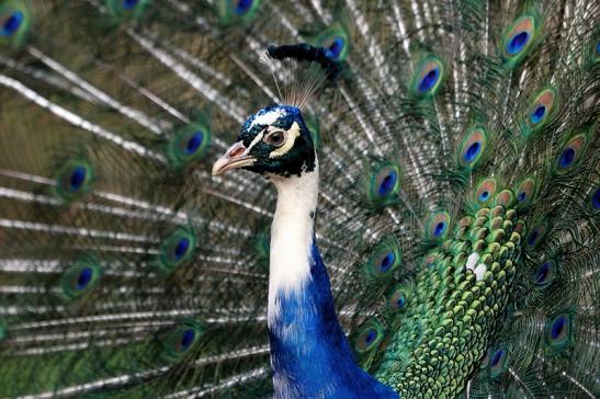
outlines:
{"label": "white upper neck of the peacock, just below its head", "polygon": [[310,276],[315,210],[319,191],[319,168],[298,176],[273,179],[278,189],[278,206],[271,225],[268,321],[280,315],[278,294],[302,292]]}

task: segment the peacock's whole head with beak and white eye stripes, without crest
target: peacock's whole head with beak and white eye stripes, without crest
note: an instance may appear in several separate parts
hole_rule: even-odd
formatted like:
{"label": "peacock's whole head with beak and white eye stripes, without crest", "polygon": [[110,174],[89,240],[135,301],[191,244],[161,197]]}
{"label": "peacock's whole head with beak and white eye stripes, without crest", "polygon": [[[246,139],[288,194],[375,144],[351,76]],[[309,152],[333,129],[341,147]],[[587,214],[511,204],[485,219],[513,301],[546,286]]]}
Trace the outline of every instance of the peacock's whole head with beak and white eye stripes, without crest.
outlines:
{"label": "peacock's whole head with beak and white eye stripes, without crest", "polygon": [[290,178],[316,166],[313,138],[299,109],[268,106],[251,115],[238,141],[213,166],[213,174],[246,169],[267,178]]}

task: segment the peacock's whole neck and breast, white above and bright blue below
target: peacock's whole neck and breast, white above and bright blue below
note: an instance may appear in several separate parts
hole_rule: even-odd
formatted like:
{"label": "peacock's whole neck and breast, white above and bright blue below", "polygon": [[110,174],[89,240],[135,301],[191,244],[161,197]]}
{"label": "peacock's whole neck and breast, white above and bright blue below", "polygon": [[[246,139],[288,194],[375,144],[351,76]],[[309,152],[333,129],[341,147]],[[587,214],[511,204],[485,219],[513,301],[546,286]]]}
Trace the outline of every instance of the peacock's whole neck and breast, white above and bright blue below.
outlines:
{"label": "peacock's whole neck and breast, white above and bright blue below", "polygon": [[274,397],[397,398],[355,363],[315,242],[318,166],[275,179],[268,322]]}

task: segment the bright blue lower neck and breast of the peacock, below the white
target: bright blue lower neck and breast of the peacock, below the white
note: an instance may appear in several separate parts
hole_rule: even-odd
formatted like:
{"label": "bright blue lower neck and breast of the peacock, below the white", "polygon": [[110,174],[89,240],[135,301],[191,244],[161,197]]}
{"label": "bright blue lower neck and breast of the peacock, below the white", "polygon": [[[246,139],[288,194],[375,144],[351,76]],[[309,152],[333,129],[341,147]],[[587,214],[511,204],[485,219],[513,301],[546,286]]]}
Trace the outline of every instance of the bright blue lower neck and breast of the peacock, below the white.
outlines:
{"label": "bright blue lower neck and breast of the peacock, below the white", "polygon": [[[329,277],[315,238],[310,277],[301,295],[278,294],[283,311],[269,326],[275,384],[290,398],[398,398],[360,368],[338,322]],[[275,398],[279,398],[275,392]]]}

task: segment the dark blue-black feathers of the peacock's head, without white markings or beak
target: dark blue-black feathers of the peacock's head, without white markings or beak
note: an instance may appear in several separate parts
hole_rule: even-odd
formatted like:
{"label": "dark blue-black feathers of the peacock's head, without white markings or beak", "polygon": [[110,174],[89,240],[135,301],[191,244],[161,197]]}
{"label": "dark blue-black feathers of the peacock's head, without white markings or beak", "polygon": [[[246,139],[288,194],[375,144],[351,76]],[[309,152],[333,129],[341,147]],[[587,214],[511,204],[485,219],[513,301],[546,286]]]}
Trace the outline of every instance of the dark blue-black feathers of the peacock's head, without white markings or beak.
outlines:
{"label": "dark blue-black feathers of the peacock's head, without white markings or beak", "polygon": [[308,127],[304,123],[302,113],[295,106],[273,105],[260,110],[246,121],[241,127],[238,141],[241,140],[244,146],[248,148],[254,137],[268,127],[263,124],[256,124],[250,128],[252,121],[254,121],[257,116],[272,111],[281,111],[285,115],[275,121],[271,126],[279,127],[283,130],[288,130],[293,123],[296,122],[299,126],[301,134],[294,141],[294,147],[292,147],[287,153],[276,158],[269,158],[269,155],[278,147],[269,145],[263,140],[259,141],[249,152],[249,155],[256,157],[257,160],[252,166],[245,167],[244,169],[260,174],[271,173],[283,176],[299,176],[303,171],[313,171],[315,169],[315,146],[313,144],[313,138],[310,137]]}

